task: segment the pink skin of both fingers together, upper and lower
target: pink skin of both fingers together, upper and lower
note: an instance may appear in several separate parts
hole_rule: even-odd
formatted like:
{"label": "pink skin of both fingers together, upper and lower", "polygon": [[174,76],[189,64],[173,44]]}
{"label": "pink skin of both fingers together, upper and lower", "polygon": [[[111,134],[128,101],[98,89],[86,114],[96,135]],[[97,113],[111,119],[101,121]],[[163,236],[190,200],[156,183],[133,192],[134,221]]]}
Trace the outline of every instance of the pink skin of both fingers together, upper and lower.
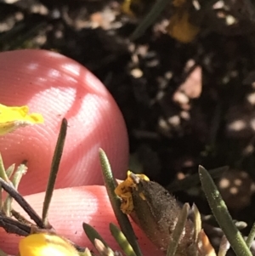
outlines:
{"label": "pink skin of both fingers together, upper and lower", "polygon": [[[0,137],[6,167],[28,161],[20,192],[42,213],[43,191],[54,152],[59,125],[67,118],[68,134],[59,168],[49,220],[59,234],[80,246],[90,247],[82,222],[93,225],[113,248],[109,223],[116,223],[102,185],[99,147],[111,161],[113,172],[123,179],[127,171],[127,131],[111,94],[82,65],[63,55],[43,50],[19,50],[0,54],[0,103],[29,105],[45,123],[20,128]],[[35,194],[37,192],[42,192]],[[18,207],[17,207],[18,208]],[[19,208],[18,208],[19,209]],[[135,227],[144,254],[161,255]],[[0,228],[0,248],[18,251],[19,236]]]}

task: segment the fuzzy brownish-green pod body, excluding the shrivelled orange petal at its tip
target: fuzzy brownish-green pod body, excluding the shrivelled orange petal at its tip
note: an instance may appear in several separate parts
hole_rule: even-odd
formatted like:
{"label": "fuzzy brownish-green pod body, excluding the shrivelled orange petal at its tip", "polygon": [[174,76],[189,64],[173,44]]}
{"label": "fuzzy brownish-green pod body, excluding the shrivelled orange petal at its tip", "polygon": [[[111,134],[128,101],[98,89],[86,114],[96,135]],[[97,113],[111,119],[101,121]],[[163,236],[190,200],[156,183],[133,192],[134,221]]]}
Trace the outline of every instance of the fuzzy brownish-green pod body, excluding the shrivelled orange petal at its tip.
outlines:
{"label": "fuzzy brownish-green pod body, excluding the shrivelled orange petal at its tip", "polygon": [[[130,177],[137,185],[132,191],[133,212],[130,215],[144,230],[151,242],[166,251],[171,242],[171,235],[181,208],[176,199],[161,185],[153,181],[139,179],[135,174]],[[189,246],[192,236],[190,221],[187,221],[180,241]],[[178,251],[180,249],[181,247],[178,247]]]}

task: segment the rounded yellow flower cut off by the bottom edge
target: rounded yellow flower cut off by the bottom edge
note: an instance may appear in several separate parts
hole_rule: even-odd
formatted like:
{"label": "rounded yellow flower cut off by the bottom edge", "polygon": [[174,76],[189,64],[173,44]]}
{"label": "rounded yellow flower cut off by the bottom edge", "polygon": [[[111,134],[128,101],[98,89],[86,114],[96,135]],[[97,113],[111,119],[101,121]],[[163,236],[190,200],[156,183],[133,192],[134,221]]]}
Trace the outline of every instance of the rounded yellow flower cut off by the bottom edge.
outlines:
{"label": "rounded yellow flower cut off by the bottom edge", "polygon": [[20,240],[20,256],[79,256],[79,253],[64,238],[48,233],[26,236]]}

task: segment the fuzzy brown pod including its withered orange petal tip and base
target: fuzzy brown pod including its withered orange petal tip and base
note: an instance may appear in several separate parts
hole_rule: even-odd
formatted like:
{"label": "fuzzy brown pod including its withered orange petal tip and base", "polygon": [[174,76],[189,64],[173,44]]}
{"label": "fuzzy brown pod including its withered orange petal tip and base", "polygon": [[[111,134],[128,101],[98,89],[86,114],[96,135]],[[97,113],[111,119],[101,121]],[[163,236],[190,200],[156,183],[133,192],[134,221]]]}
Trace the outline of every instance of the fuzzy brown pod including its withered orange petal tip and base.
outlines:
{"label": "fuzzy brown pod including its withered orange petal tip and base", "polygon": [[201,217],[195,207],[195,222],[184,217],[181,235],[173,238],[182,208],[174,196],[144,174],[128,172],[127,179],[116,188],[116,195],[122,197],[123,213],[130,214],[150,241],[161,250],[167,251],[174,240],[177,245],[175,256],[216,256],[201,230]]}

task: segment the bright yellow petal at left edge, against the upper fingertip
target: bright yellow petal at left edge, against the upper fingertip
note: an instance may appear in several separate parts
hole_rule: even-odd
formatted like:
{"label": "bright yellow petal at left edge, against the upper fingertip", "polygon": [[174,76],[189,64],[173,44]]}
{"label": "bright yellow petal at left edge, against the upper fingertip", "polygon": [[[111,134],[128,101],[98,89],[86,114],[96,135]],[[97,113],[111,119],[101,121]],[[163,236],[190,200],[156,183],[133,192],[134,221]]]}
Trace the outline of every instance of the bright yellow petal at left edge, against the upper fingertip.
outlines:
{"label": "bright yellow petal at left edge, against the upper fingertip", "polygon": [[42,115],[37,113],[29,114],[27,105],[6,106],[0,104],[0,135],[10,133],[16,128],[42,122]]}

